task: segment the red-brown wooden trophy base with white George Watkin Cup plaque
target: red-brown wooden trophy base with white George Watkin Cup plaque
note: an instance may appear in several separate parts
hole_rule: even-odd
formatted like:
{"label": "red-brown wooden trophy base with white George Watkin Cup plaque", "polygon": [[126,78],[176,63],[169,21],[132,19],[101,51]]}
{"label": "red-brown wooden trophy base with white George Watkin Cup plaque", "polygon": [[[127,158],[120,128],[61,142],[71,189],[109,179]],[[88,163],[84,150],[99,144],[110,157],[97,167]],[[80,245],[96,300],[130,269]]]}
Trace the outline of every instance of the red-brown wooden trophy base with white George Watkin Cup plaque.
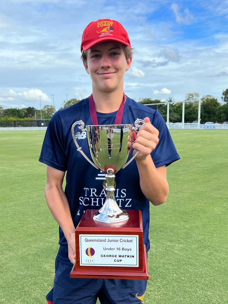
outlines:
{"label": "red-brown wooden trophy base with white George Watkin Cup plaque", "polygon": [[94,221],[96,211],[86,210],[75,229],[70,277],[148,280],[141,212],[128,210],[126,222],[110,224]]}

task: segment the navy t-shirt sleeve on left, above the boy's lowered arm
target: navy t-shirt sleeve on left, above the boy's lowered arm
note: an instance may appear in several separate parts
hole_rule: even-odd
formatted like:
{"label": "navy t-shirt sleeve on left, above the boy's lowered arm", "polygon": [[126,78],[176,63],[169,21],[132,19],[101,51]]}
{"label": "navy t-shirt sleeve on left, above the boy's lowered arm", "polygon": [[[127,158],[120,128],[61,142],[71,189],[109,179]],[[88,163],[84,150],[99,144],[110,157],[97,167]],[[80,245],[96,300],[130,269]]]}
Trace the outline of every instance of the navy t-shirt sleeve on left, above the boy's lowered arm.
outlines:
{"label": "navy t-shirt sleeve on left, above the boy's lowered arm", "polygon": [[47,126],[39,161],[57,170],[67,171],[63,128],[59,112],[52,116]]}

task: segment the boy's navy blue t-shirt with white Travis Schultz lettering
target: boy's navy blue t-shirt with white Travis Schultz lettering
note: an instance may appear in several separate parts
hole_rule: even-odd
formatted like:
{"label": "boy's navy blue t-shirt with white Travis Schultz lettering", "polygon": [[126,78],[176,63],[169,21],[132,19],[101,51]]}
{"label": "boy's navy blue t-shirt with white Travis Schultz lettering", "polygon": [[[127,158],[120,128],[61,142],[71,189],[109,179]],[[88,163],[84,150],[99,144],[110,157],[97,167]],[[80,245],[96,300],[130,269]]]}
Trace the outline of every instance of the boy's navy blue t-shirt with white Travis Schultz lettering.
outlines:
{"label": "boy's navy blue t-shirt with white Travis Schultz lettering", "polygon": [[[98,124],[114,124],[116,112],[97,112]],[[159,131],[159,142],[151,153],[155,167],[168,166],[180,157],[171,139],[169,130],[163,117],[154,109],[126,98],[122,117],[122,124],[133,124],[137,118],[150,118],[152,125]],[[86,125],[92,125],[89,113],[88,98],[56,112],[47,127],[39,161],[66,173],[65,194],[71,210],[71,216],[76,227],[81,216],[87,209],[100,209],[105,202],[106,193],[102,183],[104,175],[97,170],[77,151],[71,135],[71,126],[75,121],[82,120]],[[75,127],[77,142],[82,151],[89,157],[86,133]],[[132,149],[133,150],[133,149]],[[132,156],[131,151],[131,156]],[[143,218],[143,239],[147,251],[150,248],[149,234],[149,200],[140,188],[140,179],[136,161],[132,161],[126,168],[116,173],[116,201],[121,209],[141,210]],[[59,228],[60,248],[57,259],[71,264],[68,259],[67,241]]]}

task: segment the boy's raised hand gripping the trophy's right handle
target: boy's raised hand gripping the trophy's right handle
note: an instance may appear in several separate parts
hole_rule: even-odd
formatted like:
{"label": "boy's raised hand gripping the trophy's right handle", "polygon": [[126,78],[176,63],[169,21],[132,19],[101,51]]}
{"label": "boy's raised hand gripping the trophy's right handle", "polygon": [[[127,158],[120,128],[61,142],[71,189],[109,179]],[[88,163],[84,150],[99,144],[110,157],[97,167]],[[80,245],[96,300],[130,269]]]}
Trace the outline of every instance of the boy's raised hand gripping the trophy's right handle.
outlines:
{"label": "boy's raised hand gripping the trophy's right handle", "polygon": [[139,131],[137,133],[136,139],[132,144],[132,140],[134,140],[132,130],[129,130],[128,133],[128,144],[127,147],[130,149],[133,147],[133,155],[136,151],[139,153],[136,156],[137,160],[143,160],[147,157],[157,146],[159,141],[158,130],[150,123],[149,117],[144,118],[145,122],[142,126],[140,126]]}

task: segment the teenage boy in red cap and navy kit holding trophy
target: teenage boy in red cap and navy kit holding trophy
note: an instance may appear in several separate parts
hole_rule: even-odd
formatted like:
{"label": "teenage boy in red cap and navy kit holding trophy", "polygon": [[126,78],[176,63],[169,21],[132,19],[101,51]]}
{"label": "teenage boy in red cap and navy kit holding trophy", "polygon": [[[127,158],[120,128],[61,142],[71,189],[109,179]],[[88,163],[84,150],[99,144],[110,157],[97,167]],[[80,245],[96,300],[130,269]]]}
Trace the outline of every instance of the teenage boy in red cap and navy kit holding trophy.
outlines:
{"label": "teenage boy in red cap and navy kit holding trophy", "polygon": [[[147,251],[150,247],[149,201],[154,205],[165,202],[166,166],[179,156],[159,112],[135,102],[123,92],[124,74],[132,62],[131,44],[123,26],[110,19],[89,23],[82,34],[81,58],[92,80],[92,95],[53,115],[39,159],[47,164],[45,197],[60,226],[54,287],[47,295],[47,302],[95,304],[99,298],[102,304],[143,303],[146,280],[69,278],[75,261],[75,227],[86,209],[100,209],[105,201],[98,177],[102,174],[78,153],[71,126],[78,120],[85,125],[130,124],[137,118],[146,121],[132,145],[131,156],[139,151],[135,161],[116,173],[115,196],[122,209],[141,210]],[[85,132],[78,129],[76,137],[89,155]]]}

